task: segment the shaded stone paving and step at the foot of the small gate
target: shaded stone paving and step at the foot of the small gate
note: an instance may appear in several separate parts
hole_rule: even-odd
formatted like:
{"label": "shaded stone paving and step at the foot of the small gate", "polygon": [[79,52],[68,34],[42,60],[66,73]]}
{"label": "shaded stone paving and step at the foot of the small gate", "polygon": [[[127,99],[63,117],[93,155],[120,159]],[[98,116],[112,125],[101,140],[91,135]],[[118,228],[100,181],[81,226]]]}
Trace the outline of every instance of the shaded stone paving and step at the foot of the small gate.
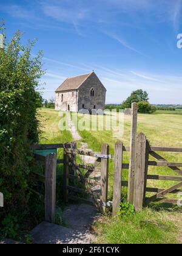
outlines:
{"label": "shaded stone paving and step at the foot of the small gate", "polygon": [[95,240],[90,225],[98,211],[87,204],[73,204],[66,207],[62,218],[67,227],[42,222],[30,232],[34,244],[89,244]]}

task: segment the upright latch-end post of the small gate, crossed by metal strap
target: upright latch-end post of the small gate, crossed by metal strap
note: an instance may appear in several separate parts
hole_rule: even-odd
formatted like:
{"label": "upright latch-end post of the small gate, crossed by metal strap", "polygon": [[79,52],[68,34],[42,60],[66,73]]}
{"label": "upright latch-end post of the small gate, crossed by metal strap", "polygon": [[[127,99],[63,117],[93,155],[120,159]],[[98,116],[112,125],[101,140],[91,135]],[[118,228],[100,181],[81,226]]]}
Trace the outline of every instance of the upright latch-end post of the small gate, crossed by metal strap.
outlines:
{"label": "upright latch-end post of the small gate, crossed by metal strap", "polygon": [[[109,155],[109,145],[103,144],[102,154]],[[106,213],[108,193],[109,158],[101,158],[101,211]]]}

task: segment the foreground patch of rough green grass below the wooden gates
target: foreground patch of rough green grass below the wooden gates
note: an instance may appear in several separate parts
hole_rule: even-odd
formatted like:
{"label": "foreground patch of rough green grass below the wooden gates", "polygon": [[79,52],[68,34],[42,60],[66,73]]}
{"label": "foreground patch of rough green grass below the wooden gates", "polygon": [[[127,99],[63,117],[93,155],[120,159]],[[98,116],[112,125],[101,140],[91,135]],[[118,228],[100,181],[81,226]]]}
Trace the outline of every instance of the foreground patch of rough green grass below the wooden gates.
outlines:
{"label": "foreground patch of rough green grass below the wooden gates", "polygon": [[[131,216],[103,216],[94,225],[98,243],[110,244],[174,244],[177,243],[173,221],[165,220],[165,212],[145,208]],[[163,217],[162,217],[163,216]],[[161,218],[162,217],[162,218]]]}

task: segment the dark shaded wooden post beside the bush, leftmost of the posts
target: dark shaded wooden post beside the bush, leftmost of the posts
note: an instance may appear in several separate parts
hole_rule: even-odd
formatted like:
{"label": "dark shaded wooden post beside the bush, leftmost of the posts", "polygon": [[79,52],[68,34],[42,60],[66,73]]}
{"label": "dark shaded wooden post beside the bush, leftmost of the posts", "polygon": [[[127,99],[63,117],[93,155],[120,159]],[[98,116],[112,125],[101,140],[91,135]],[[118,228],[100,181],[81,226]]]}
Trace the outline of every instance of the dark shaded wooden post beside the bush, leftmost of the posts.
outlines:
{"label": "dark shaded wooden post beside the bush, leftmost of the posts", "polygon": [[56,154],[45,157],[45,221],[55,222],[56,212]]}

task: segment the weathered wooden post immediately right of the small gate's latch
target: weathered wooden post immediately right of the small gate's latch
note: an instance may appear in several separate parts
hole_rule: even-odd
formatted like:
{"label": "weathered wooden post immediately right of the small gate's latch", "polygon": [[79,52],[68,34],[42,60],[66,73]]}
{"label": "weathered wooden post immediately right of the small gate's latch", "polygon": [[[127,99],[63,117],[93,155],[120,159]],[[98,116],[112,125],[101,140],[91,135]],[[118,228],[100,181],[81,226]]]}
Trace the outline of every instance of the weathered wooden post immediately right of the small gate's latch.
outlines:
{"label": "weathered wooden post immediately right of the small gate's latch", "polygon": [[123,164],[123,143],[118,141],[115,144],[112,215],[116,215],[120,208],[122,164]]}

